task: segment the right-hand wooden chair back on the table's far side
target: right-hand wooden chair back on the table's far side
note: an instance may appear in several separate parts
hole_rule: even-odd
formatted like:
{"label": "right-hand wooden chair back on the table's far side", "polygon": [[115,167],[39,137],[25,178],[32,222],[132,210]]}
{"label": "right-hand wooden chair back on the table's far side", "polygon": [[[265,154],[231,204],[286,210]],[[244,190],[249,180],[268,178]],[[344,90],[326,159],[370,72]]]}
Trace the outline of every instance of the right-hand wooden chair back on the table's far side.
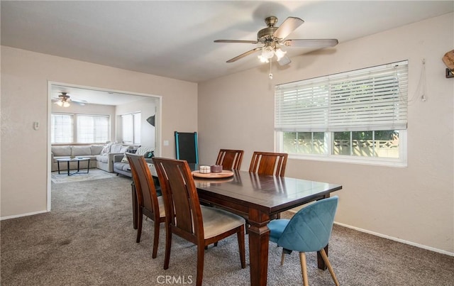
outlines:
{"label": "right-hand wooden chair back on the table's far side", "polygon": [[255,151],[253,158],[250,160],[249,172],[258,175],[284,177],[288,156],[287,153]]}

